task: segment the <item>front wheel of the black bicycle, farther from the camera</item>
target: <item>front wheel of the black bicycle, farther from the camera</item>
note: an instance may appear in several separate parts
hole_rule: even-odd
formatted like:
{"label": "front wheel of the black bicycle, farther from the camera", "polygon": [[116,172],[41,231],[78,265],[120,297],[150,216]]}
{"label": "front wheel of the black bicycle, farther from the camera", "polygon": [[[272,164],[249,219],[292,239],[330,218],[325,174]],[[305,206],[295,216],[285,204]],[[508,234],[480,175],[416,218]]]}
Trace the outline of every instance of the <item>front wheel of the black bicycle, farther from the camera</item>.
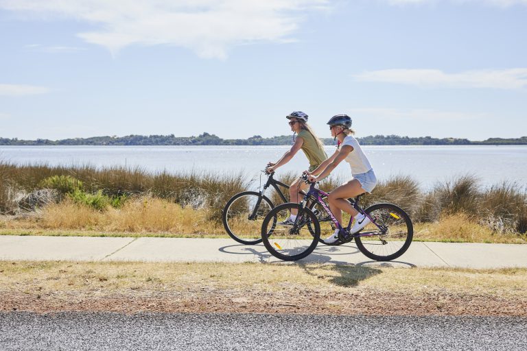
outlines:
{"label": "front wheel of the black bicycle, farther from the camera", "polygon": [[270,199],[256,191],[236,194],[223,209],[223,226],[229,237],[238,243],[261,243],[261,223],[273,207]]}

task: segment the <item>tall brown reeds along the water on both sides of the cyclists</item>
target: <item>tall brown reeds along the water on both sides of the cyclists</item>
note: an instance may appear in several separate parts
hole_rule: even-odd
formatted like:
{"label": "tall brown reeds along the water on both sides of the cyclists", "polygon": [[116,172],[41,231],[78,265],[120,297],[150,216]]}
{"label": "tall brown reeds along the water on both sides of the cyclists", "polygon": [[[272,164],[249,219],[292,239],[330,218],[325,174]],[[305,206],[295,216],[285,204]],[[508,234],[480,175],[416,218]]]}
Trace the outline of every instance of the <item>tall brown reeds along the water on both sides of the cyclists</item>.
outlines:
{"label": "tall brown reeds along the water on both sides of the cyclists", "polygon": [[[166,204],[179,206],[180,212],[198,210],[199,216],[206,216],[207,221],[216,224],[220,223],[222,208],[231,196],[240,191],[257,188],[257,184],[251,184],[242,173],[148,173],[139,167],[97,169],[92,166],[55,167],[0,162],[1,213],[15,213],[19,210],[21,194],[42,189],[43,184],[47,184],[47,180],[53,176],[69,176],[78,180],[88,193],[97,194],[100,191],[108,197],[119,198],[125,195],[122,199],[130,199],[131,204],[136,204],[133,208],[138,211],[139,197],[150,198],[151,201],[164,199]],[[296,176],[296,173],[282,173],[277,179],[291,184]],[[343,182],[340,178],[329,178],[321,182],[320,187],[331,191]],[[283,189],[283,193],[289,197],[287,189]],[[274,204],[282,202],[276,193],[268,195]],[[430,223],[460,214],[462,216],[456,217],[457,220],[462,218],[480,223],[495,233],[527,232],[527,189],[520,184],[503,182],[482,188],[475,176],[462,175],[444,184],[438,183],[429,191],[422,191],[417,180],[408,175],[395,175],[379,182],[373,193],[362,197],[364,207],[377,202],[398,204],[416,223]],[[127,210],[132,211],[128,207]],[[69,213],[71,215],[71,210]],[[160,216],[170,217],[169,213],[162,210]],[[126,225],[126,228],[132,227]]]}

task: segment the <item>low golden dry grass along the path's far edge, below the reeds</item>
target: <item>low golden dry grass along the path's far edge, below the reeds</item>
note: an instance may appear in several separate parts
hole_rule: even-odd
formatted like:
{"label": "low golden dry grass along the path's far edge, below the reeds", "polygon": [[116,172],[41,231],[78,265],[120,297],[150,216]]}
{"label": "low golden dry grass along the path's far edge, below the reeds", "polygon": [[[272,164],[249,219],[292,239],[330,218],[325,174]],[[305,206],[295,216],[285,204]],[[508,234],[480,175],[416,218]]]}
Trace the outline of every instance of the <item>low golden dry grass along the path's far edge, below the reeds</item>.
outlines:
{"label": "low golden dry grass along the path's far edge, below the reeds", "polygon": [[[245,222],[244,222],[245,223]],[[253,223],[253,222],[250,222]],[[247,228],[255,233],[259,228]],[[156,197],[133,197],[104,212],[63,201],[25,217],[0,217],[0,234],[80,236],[227,237],[206,209],[183,208]],[[525,235],[497,232],[469,215],[444,213],[438,221],[414,223],[416,241],[527,243]]]}

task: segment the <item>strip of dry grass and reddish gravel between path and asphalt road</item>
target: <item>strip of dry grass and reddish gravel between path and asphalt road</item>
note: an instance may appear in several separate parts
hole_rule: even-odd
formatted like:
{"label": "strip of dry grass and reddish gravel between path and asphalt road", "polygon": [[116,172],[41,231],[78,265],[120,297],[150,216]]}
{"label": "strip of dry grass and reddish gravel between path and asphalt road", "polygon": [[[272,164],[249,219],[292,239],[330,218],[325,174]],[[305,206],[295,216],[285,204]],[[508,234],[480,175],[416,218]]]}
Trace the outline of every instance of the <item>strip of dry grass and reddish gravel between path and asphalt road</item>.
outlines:
{"label": "strip of dry grass and reddish gravel between path and asphalt road", "polygon": [[527,269],[0,262],[0,287],[0,311],[527,314]]}

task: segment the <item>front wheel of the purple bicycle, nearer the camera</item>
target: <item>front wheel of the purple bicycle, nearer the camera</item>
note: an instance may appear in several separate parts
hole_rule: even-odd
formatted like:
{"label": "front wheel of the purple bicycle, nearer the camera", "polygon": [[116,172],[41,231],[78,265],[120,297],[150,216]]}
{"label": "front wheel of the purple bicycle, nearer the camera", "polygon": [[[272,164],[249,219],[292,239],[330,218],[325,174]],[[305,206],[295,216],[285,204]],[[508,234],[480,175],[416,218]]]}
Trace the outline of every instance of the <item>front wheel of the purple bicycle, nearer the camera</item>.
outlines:
{"label": "front wheel of the purple bicycle, nearer the camera", "polygon": [[[292,209],[298,210],[294,225],[281,226],[279,223],[290,217]],[[318,238],[320,226],[312,210],[292,202],[273,208],[261,225],[261,239],[266,249],[283,261],[296,261],[311,254]]]}

